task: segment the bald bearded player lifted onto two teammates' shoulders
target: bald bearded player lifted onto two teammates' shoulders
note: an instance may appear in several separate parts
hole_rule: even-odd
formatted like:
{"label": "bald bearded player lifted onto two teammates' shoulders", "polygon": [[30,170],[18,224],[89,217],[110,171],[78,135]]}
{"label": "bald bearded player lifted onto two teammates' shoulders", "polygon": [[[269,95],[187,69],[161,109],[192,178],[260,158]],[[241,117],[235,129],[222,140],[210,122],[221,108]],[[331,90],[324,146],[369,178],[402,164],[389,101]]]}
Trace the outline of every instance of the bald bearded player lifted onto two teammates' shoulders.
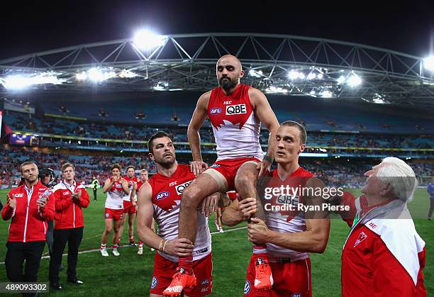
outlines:
{"label": "bald bearded player lifted onto two teammates' shoulders", "polygon": [[[240,84],[244,70],[240,60],[233,55],[224,55],[216,65],[218,86],[203,94],[194,110],[188,128],[189,144],[193,155],[191,162],[195,175],[199,175],[207,165],[201,157],[199,129],[208,116],[217,144],[217,161],[200,174],[182,194],[179,213],[179,237],[195,242],[196,208],[206,196],[214,192],[238,191],[240,199],[257,197],[257,176],[264,174],[272,163],[274,133],[279,128],[277,118],[262,91]],[[261,121],[270,132],[267,155],[263,156],[260,145]],[[264,219],[264,211],[257,201],[255,214]],[[272,286],[271,271],[267,262],[265,245],[254,245],[253,255],[257,266],[257,288]],[[174,282],[165,294],[176,296],[181,293],[187,275],[192,272],[192,257],[179,257],[179,267],[186,276],[174,276]],[[175,279],[180,278],[180,282]]]}

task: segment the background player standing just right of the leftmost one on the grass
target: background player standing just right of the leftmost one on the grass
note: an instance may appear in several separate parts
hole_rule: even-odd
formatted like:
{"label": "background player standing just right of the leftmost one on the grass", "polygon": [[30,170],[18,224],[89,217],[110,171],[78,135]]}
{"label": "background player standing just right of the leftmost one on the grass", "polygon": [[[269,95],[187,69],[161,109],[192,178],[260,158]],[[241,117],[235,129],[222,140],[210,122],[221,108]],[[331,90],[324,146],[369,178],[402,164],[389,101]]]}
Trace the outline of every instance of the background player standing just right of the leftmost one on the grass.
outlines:
{"label": "background player standing just right of the leftmost one on the grass", "polygon": [[[123,228],[125,227],[125,222],[128,214],[128,236],[130,239],[130,245],[135,245],[134,242],[134,218],[135,213],[137,210],[133,206],[133,203],[131,202],[130,193],[133,190],[133,186],[137,184],[137,177],[135,177],[135,169],[134,166],[128,166],[126,169],[126,176],[123,176],[123,179],[125,179],[128,182],[128,190],[129,194],[126,194],[123,196],[123,218],[121,223],[121,228],[119,228],[119,239],[118,239],[118,245],[121,245],[121,237],[123,234]],[[135,198],[135,195],[132,196],[132,198]]]}

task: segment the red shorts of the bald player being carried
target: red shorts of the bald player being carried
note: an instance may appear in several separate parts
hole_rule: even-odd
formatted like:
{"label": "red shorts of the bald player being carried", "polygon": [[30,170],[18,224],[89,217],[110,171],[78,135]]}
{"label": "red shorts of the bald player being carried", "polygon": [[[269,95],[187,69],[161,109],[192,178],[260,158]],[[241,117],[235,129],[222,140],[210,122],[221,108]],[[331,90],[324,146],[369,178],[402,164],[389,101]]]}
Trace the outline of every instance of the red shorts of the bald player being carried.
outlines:
{"label": "red shorts of the bald player being carried", "polygon": [[[238,169],[240,169],[241,165],[246,162],[260,163],[261,160],[255,157],[223,159],[221,161],[217,161],[209,168],[216,170],[224,177],[224,179],[226,179],[226,185],[228,186],[226,191],[233,191],[235,190],[235,176],[237,175]],[[211,176],[215,177],[213,174],[211,174]],[[218,176],[216,177],[218,178]]]}

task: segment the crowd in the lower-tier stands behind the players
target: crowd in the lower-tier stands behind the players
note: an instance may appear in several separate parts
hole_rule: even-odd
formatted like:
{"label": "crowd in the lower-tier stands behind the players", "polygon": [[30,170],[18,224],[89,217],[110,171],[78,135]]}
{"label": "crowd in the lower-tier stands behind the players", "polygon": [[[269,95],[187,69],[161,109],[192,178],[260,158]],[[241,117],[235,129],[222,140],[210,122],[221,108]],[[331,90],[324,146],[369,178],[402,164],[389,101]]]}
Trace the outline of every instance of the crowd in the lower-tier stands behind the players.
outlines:
{"label": "crowd in the lower-tier stands behind the players", "polygon": [[[18,171],[20,164],[26,160],[33,160],[39,168],[50,167],[60,176],[60,167],[65,162],[72,162],[77,167],[77,178],[84,184],[90,184],[93,176],[99,179],[100,183],[110,174],[110,167],[113,163],[121,164],[125,169],[133,165],[136,170],[148,169],[150,174],[157,171],[155,162],[152,162],[148,155],[131,155],[118,157],[113,155],[66,155],[63,153],[35,152],[23,147],[0,147],[0,172],[2,187],[16,186],[21,179]],[[215,155],[208,155],[205,162],[213,164]],[[188,164],[190,154],[178,154],[180,163]],[[362,186],[365,183],[364,172],[372,168],[379,160],[360,158],[302,158],[301,165],[319,176],[329,186]],[[411,162],[418,176],[434,176],[434,163],[432,162]],[[425,179],[428,180],[429,179]]]}

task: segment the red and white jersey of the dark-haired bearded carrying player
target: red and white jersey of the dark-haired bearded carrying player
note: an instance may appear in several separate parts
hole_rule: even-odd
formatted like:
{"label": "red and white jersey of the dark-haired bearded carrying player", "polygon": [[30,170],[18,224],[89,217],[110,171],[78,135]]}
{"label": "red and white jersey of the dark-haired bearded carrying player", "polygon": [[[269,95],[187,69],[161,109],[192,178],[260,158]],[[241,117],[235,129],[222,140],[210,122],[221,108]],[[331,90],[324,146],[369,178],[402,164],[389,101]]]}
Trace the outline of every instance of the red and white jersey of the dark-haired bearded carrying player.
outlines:
{"label": "red and white jersey of the dark-haired bearded carrying player", "polygon": [[[154,215],[158,224],[158,235],[165,240],[172,240],[178,236],[179,205],[182,191],[191,184],[194,178],[189,165],[178,164],[177,170],[172,176],[157,173],[149,180],[152,188]],[[172,262],[178,262],[177,256],[160,251],[159,253]],[[194,261],[202,259],[209,253],[211,253],[211,233],[208,228],[208,219],[198,211],[193,259]]]}

